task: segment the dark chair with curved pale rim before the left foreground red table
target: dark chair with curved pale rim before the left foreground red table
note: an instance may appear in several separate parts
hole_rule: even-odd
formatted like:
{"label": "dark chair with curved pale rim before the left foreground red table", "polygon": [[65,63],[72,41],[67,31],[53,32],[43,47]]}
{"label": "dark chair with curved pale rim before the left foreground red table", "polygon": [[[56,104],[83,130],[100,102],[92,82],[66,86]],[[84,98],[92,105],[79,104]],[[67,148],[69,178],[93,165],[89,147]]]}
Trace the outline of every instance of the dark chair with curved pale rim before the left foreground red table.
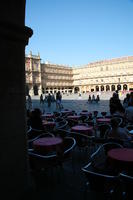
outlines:
{"label": "dark chair with curved pale rim before the left foreground red table", "polygon": [[[65,137],[63,139],[63,148],[61,151],[50,151],[46,154],[36,151],[34,148],[28,149],[30,169],[33,173],[52,170],[58,166],[62,167],[63,163],[72,160],[73,149],[76,141],[72,137]],[[73,168],[73,162],[72,162]]]}

